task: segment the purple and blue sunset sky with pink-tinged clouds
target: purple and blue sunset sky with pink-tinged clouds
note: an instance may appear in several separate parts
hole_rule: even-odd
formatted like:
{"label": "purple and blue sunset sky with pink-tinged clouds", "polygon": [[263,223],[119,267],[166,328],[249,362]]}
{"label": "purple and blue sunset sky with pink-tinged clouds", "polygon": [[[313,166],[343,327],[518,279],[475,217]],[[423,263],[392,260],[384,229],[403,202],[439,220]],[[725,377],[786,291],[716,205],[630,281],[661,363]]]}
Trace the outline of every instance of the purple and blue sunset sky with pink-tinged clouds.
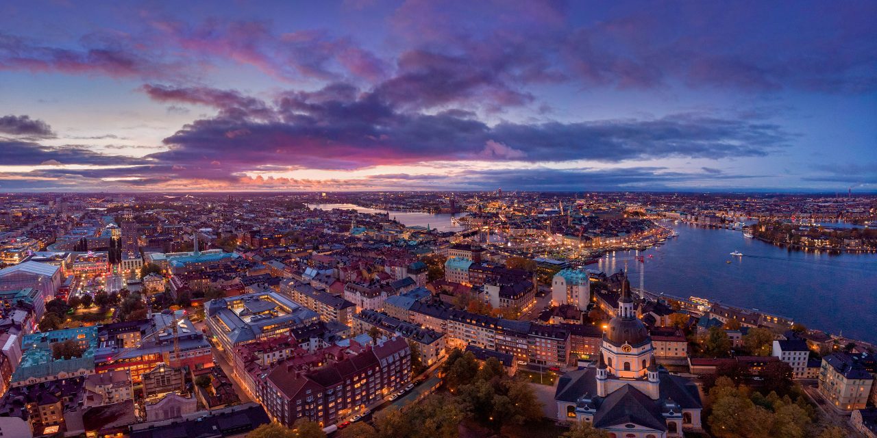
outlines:
{"label": "purple and blue sunset sky with pink-tinged clouds", "polygon": [[0,191],[877,191],[877,2],[0,3]]}

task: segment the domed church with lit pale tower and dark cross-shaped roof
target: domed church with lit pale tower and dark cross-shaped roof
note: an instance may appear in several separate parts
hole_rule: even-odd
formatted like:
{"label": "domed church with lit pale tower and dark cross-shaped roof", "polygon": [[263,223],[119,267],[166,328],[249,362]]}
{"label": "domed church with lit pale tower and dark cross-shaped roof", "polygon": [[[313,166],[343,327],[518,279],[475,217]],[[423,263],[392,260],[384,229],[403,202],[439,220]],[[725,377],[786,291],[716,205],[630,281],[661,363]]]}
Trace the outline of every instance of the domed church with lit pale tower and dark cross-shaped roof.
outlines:
{"label": "domed church with lit pale tower and dark cross-shaped roof", "polygon": [[603,332],[598,363],[561,376],[554,400],[558,420],[585,421],[612,438],[672,438],[702,430],[697,386],[655,363],[652,338],[624,287],[617,315]]}

